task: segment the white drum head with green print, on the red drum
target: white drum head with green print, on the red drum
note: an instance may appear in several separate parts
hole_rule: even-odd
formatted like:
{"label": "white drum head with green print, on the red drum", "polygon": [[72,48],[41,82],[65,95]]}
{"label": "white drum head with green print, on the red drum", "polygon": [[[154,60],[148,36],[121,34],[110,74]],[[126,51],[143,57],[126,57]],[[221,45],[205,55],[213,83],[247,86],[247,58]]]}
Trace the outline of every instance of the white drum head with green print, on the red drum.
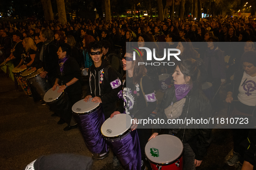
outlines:
{"label": "white drum head with green print, on the red drum", "polygon": [[145,146],[149,161],[156,164],[169,164],[176,161],[183,152],[183,143],[174,135],[158,135]]}

